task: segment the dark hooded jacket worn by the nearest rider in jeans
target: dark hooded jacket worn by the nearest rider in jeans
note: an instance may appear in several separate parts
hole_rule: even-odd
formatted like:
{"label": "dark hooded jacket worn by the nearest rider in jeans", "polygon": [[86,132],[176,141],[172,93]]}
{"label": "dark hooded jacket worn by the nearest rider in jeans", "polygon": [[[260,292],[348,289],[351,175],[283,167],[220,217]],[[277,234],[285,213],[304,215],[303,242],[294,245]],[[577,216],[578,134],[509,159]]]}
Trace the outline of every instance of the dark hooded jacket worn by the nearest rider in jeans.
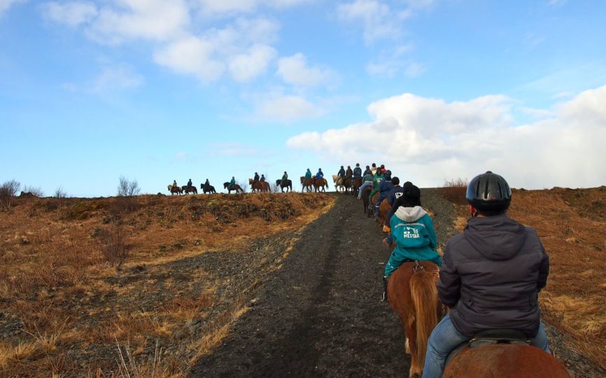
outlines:
{"label": "dark hooded jacket worn by the nearest rider in jeans", "polygon": [[455,328],[467,337],[512,328],[535,337],[539,291],[547,283],[549,257],[536,232],[506,214],[471,218],[446,243],[438,291],[451,307]]}

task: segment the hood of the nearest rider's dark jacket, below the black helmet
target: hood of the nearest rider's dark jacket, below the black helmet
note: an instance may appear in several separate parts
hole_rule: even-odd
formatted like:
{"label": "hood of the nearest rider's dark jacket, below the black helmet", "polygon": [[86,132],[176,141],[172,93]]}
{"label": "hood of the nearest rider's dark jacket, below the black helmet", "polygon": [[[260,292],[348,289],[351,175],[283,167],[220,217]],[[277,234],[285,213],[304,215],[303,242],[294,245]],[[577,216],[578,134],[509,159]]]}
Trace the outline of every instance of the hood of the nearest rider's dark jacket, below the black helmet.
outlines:
{"label": "hood of the nearest rider's dark jacket, below the black helmet", "polygon": [[471,218],[463,231],[465,239],[489,260],[509,260],[526,241],[526,228],[506,214]]}

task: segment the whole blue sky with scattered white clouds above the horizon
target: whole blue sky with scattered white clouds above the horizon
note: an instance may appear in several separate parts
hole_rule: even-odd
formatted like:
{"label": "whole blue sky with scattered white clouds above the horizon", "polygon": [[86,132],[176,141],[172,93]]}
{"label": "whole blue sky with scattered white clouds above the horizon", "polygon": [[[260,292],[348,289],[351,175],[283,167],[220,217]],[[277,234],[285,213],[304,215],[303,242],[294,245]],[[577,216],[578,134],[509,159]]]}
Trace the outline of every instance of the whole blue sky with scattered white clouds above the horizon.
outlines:
{"label": "whole blue sky with scattered white clouds above the horizon", "polygon": [[[606,177],[606,2],[0,0],[0,181]],[[296,186],[300,190],[300,186]]]}

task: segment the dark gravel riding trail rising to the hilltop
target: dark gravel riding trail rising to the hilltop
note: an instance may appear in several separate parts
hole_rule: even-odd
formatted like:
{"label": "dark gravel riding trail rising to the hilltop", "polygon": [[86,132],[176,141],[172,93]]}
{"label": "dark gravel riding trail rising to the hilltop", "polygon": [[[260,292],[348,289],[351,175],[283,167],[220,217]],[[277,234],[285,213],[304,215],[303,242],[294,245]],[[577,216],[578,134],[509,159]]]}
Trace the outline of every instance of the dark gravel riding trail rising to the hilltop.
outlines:
{"label": "dark gravel riding trail rising to the hilltop", "polygon": [[[451,208],[434,193],[439,235]],[[434,203],[435,201],[439,203]],[[390,250],[362,204],[339,196],[302,232],[283,267],[259,290],[230,336],[192,369],[192,377],[401,376],[409,370],[404,334],[380,302]]]}

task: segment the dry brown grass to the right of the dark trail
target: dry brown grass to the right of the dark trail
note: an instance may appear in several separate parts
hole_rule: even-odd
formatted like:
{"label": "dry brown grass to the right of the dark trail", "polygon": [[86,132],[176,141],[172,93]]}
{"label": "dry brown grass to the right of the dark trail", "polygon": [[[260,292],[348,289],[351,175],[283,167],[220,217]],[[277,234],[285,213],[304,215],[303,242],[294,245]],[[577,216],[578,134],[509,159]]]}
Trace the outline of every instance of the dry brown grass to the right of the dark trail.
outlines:
{"label": "dry brown grass to the right of the dark trail", "polygon": [[[535,229],[550,260],[542,316],[606,367],[606,187],[514,190],[509,216]],[[458,207],[458,230],[469,211]]]}

